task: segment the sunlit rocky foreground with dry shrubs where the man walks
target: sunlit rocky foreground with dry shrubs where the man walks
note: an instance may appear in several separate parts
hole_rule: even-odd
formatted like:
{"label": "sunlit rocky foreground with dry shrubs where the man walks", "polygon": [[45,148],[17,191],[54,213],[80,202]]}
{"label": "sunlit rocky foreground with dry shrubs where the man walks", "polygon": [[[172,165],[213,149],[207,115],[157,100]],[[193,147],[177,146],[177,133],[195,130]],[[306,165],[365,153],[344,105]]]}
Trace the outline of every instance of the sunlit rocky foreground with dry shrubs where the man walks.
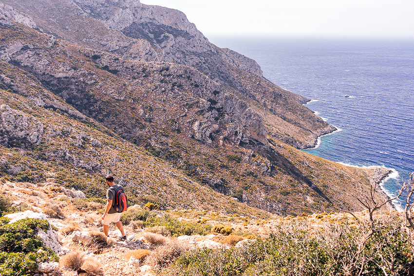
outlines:
{"label": "sunlit rocky foreground with dry shrubs where the man walks", "polygon": [[[0,188],[0,216],[5,215],[0,218],[0,253],[6,258],[0,275],[4,276],[414,274],[412,228],[404,213],[394,210],[256,219],[134,205],[121,216],[127,235],[123,241],[113,224],[109,238],[101,232],[105,200],[85,198],[53,177],[38,184],[6,182]],[[44,258],[38,250],[37,259],[42,260],[27,268],[30,260],[17,262],[12,256],[19,253],[7,253],[3,245],[16,243],[4,238],[24,228],[19,220],[37,223],[44,230],[35,229],[50,248],[42,250],[57,256],[58,262],[56,257]],[[12,267],[14,271],[9,270]]]}

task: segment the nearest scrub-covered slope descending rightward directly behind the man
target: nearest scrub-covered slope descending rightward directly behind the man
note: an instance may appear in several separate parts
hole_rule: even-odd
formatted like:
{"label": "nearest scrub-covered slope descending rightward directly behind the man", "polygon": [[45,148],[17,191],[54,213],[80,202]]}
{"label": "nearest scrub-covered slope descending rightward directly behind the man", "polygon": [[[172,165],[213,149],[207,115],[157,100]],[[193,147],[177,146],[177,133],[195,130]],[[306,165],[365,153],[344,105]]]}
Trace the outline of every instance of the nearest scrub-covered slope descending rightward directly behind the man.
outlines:
{"label": "nearest scrub-covered slope descending rightward directly behind the man", "polygon": [[[57,183],[103,197],[103,174],[126,186],[132,203],[244,213],[246,206],[185,177],[42,87],[33,76],[1,62],[3,80],[22,95],[0,90],[0,181]],[[5,75],[13,75],[8,79]],[[30,74],[29,74],[30,75]],[[238,206],[238,207],[237,207]],[[263,211],[248,208],[257,216]]]}

